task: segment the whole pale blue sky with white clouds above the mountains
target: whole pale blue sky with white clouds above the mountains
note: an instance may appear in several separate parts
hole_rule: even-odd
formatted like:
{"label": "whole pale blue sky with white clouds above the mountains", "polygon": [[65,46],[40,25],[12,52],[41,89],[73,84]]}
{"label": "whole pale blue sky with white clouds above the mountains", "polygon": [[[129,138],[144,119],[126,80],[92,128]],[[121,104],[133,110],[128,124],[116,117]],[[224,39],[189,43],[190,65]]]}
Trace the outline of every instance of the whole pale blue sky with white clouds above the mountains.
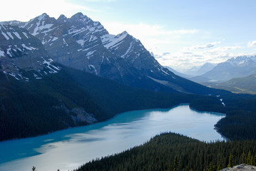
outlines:
{"label": "whole pale blue sky with white clouds above the mountains", "polygon": [[256,55],[255,6],[255,0],[3,0],[0,21],[82,12],[111,34],[127,31],[161,65],[185,72]]}

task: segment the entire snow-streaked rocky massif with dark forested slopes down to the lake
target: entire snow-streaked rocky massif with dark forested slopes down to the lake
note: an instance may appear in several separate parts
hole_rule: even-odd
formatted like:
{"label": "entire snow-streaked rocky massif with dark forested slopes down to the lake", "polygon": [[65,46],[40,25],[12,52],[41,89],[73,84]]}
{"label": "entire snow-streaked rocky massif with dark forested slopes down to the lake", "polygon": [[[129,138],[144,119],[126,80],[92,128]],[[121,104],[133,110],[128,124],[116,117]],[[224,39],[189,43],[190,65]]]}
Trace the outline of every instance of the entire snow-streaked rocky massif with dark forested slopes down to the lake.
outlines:
{"label": "entire snow-streaked rocky massif with dark forested slopes down to the lake", "polygon": [[228,138],[255,133],[255,122],[250,122],[255,115],[247,115],[255,113],[255,96],[233,95],[176,76],[126,31],[110,35],[83,14],[57,20],[42,14],[0,26],[0,140],[179,103],[227,113],[218,128]]}

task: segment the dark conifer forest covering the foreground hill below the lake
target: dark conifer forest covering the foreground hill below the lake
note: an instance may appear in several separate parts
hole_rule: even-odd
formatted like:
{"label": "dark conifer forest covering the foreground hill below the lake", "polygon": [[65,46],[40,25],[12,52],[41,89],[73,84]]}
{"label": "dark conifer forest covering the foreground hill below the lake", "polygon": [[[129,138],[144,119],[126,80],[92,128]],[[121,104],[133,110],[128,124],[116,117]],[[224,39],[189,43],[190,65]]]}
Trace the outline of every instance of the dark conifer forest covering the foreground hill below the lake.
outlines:
{"label": "dark conifer forest covering the foreground hill below the lake", "polygon": [[163,133],[117,155],[92,160],[85,170],[220,170],[256,163],[255,141],[200,142],[175,133]]}

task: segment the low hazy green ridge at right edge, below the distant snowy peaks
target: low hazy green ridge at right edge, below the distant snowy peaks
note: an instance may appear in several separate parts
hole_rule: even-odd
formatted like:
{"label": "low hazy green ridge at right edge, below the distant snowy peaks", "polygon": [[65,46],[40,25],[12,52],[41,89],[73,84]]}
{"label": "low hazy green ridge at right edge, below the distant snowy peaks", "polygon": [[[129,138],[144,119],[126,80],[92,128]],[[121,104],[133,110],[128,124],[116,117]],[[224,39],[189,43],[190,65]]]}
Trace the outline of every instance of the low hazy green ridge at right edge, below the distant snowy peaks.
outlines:
{"label": "low hazy green ridge at right edge, below the distant snowy peaks", "polygon": [[243,78],[232,78],[230,81],[220,83],[203,83],[205,86],[229,90],[235,93],[256,94],[256,74]]}

